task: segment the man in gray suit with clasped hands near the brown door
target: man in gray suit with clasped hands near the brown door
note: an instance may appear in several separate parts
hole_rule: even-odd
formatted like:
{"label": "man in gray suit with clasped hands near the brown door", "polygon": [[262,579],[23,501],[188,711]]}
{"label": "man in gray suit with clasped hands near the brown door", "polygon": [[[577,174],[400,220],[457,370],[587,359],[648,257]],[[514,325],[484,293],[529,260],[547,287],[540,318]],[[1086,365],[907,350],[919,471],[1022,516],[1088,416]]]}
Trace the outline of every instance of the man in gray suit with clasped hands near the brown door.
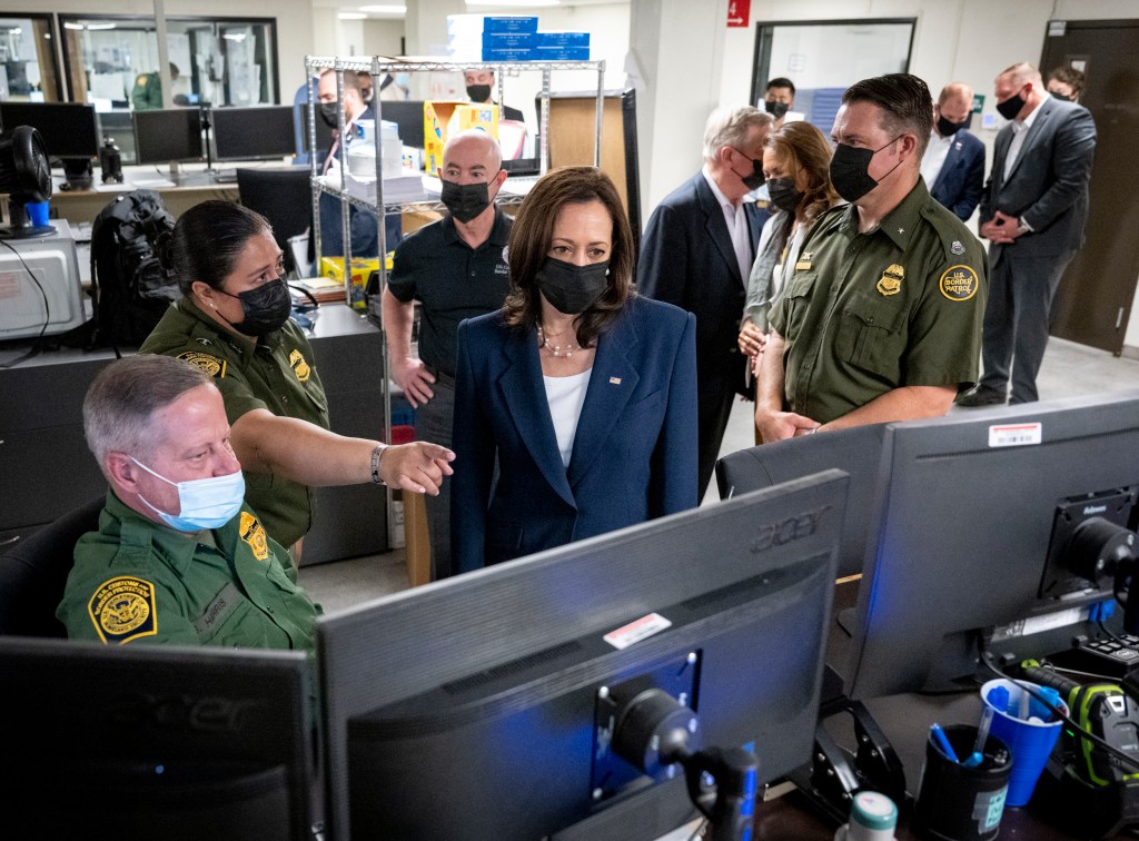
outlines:
{"label": "man in gray suit with clasped hands near the brown door", "polygon": [[1083,245],[1096,124],[1083,106],[1049,96],[1040,71],[1015,64],[997,76],[997,136],[981,199],[989,248],[984,375],[959,406],[1036,400],[1048,317],[1064,269]]}

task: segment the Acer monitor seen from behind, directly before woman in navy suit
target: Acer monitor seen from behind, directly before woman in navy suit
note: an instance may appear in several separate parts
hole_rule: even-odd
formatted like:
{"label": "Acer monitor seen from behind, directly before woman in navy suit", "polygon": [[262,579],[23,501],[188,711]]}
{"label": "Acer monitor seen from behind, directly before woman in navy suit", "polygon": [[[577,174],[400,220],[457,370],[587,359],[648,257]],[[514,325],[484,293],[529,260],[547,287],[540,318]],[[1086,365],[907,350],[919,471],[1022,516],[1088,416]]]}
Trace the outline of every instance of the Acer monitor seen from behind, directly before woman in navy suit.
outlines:
{"label": "Acer monitor seen from behind, directly before woman in navy suit", "polygon": [[614,749],[650,689],[705,748],[753,743],[757,784],[805,762],[845,493],[829,471],[321,619],[334,836],[657,838],[683,774]]}

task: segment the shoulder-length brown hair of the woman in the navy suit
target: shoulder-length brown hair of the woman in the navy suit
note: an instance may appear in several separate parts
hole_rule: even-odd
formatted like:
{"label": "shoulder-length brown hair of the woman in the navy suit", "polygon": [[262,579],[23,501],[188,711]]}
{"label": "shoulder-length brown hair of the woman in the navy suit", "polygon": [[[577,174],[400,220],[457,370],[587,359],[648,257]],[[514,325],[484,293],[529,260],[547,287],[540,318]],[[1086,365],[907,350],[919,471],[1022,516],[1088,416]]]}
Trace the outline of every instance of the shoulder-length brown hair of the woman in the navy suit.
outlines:
{"label": "shoulder-length brown hair of the woman in the navy suit", "polygon": [[608,286],[597,303],[582,313],[577,324],[577,344],[592,345],[593,340],[621,313],[629,296],[634,294],[633,235],[629,227],[621,196],[613,181],[592,166],[565,166],[552,170],[538,180],[526,195],[510,228],[507,262],[510,267],[510,292],[502,305],[502,320],[521,329],[538,324],[542,303],[538,293],[538,270],[550,253],[554,223],[567,204],[600,202],[613,220],[613,247],[609,251]]}

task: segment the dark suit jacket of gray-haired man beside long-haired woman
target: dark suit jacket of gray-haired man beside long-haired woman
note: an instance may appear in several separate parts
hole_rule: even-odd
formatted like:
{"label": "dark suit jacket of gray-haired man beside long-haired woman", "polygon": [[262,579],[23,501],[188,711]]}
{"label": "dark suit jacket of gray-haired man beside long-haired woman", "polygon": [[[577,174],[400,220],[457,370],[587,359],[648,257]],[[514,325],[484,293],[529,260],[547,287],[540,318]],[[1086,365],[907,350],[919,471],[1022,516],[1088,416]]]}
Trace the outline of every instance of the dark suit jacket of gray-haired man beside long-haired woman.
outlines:
{"label": "dark suit jacket of gray-haired man beside long-haired woman", "polygon": [[[752,252],[760,215],[745,203]],[[739,273],[723,210],[703,172],[696,173],[653,211],[641,238],[637,288],[696,316],[696,370],[702,393],[747,393],[747,359],[739,352],[739,319],[747,277]]]}

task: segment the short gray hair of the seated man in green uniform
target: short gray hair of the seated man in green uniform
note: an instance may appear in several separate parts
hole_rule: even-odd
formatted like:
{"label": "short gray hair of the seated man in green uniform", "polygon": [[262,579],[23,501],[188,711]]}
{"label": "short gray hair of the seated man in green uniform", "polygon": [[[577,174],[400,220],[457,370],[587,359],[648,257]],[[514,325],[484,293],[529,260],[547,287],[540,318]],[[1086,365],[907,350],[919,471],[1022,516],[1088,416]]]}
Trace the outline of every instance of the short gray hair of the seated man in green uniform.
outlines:
{"label": "short gray hair of the seated man in green uniform", "polygon": [[155,413],[212,383],[208,374],[185,360],[151,353],[126,357],[100,370],[83,400],[83,433],[99,468],[106,475],[110,452],[149,460],[161,443],[151,423]]}

